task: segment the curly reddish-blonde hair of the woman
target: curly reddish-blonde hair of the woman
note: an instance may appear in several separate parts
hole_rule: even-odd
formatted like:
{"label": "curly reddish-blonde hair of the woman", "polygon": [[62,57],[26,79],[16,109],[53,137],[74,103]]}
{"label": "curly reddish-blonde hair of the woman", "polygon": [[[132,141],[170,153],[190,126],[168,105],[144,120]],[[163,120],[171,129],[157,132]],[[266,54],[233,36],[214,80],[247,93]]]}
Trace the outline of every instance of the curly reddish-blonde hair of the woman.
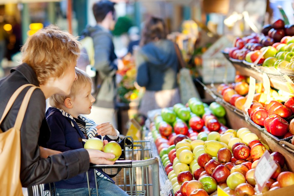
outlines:
{"label": "curly reddish-blonde hair of the woman", "polygon": [[22,63],[35,71],[39,84],[50,77],[60,77],[80,54],[78,37],[49,25],[29,36],[21,48]]}

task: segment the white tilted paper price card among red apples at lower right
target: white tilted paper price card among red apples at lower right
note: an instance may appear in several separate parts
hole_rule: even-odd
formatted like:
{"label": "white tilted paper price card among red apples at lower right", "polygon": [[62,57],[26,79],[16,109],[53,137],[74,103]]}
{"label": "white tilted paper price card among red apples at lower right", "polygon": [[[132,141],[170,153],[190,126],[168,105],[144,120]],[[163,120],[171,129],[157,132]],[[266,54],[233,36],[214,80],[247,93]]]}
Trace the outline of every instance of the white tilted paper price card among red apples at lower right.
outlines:
{"label": "white tilted paper price card among red apples at lower right", "polygon": [[276,169],[277,165],[270,156],[269,152],[266,150],[259,159],[254,172],[254,179],[260,192]]}

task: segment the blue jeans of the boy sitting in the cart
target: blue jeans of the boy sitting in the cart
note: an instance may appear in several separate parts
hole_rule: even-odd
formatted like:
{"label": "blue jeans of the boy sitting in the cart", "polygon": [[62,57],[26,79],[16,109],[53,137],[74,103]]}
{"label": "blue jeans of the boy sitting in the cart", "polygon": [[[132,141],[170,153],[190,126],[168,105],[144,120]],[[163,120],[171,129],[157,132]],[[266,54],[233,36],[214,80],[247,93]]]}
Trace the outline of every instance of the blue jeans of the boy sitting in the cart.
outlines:
{"label": "blue jeans of the boy sitting in the cart", "polygon": [[[128,196],[128,194],[113,184],[107,179],[97,176],[98,195],[99,196]],[[90,188],[91,196],[97,195],[96,188]],[[56,188],[56,194],[52,193],[52,196],[88,196],[88,188]]]}

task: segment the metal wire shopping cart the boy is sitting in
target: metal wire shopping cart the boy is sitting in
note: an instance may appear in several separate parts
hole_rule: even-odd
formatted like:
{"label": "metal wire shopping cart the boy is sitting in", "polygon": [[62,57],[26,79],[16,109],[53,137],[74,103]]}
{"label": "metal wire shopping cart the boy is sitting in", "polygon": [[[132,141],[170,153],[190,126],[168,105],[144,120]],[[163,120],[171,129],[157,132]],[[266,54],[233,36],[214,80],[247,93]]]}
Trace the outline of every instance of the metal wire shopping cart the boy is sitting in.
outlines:
{"label": "metal wire shopping cart the boy is sitting in", "polygon": [[[130,136],[126,139],[130,139],[132,144],[124,144],[125,160],[116,161],[113,165],[91,165],[90,168],[103,169],[108,174],[117,173],[118,169],[121,169],[112,179],[130,196],[160,195],[158,158],[153,156],[151,142],[133,141]],[[28,188],[28,196],[51,196],[51,192],[43,191],[43,188],[43,185]],[[88,189],[90,190],[89,181]],[[54,187],[51,190],[53,191]]]}

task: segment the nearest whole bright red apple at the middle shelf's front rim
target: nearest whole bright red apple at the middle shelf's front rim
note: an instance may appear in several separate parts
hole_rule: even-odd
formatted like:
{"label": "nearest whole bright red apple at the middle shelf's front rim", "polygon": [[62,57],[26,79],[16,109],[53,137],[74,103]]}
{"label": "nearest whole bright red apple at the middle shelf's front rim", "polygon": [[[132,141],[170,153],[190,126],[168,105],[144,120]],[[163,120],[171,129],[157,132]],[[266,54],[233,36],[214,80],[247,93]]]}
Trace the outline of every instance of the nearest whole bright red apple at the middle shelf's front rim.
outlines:
{"label": "nearest whole bright red apple at the middle shelf's front rim", "polygon": [[289,124],[283,118],[274,118],[270,124],[270,133],[274,136],[284,136],[289,131]]}

